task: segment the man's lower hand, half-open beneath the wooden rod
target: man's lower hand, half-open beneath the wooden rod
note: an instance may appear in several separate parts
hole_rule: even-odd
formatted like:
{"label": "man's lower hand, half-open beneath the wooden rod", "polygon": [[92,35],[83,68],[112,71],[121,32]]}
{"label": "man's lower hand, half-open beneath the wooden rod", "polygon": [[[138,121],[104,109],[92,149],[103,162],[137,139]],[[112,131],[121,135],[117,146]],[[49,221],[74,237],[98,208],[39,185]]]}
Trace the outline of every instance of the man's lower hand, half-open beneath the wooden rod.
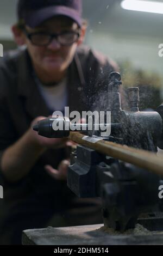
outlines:
{"label": "man's lower hand, half-open beneath the wooden rod", "polygon": [[45,170],[49,175],[55,180],[67,180],[67,170],[70,166],[69,160],[63,160],[58,166],[58,170],[54,169],[52,166],[45,166]]}

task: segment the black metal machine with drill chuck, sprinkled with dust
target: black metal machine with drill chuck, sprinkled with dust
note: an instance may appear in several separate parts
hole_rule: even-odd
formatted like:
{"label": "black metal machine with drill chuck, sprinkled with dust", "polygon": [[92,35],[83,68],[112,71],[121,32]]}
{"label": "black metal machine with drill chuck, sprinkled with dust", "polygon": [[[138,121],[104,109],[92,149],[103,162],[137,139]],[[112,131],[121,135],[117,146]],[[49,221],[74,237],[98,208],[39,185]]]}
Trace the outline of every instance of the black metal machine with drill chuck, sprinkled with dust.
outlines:
{"label": "black metal machine with drill chuck, sprinkled with dust", "polygon": [[[163,149],[163,105],[155,112],[140,112],[139,88],[128,88],[130,109],[122,110],[121,83],[120,74],[112,72],[106,109],[111,111],[110,136],[101,137],[101,131],[95,130],[89,131],[88,135],[153,152],[157,151],[158,146]],[[71,125],[70,130],[54,131],[53,121],[42,120],[34,130],[49,138],[70,135]],[[63,122],[65,124],[66,120],[63,119]],[[82,124],[77,126],[82,127]],[[78,197],[102,198],[106,227],[124,231],[140,223],[149,230],[163,229],[163,204],[158,197],[158,188],[163,182],[158,175],[122,162],[118,157],[115,159],[78,145],[71,156],[67,184]]]}

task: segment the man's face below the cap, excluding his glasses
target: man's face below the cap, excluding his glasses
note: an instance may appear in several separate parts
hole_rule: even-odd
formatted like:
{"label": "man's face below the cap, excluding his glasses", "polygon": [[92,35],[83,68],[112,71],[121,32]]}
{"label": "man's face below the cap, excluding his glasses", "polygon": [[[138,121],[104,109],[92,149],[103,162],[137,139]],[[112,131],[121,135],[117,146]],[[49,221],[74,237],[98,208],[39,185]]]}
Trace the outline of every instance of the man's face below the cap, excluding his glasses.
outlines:
{"label": "man's face below the cap, excluding his glasses", "polygon": [[[79,29],[77,23],[68,17],[60,16],[43,22],[42,25],[34,29],[26,26],[26,31],[28,33],[46,32],[49,34],[60,34],[62,32],[78,32]],[[36,46],[26,38],[26,45],[34,66],[37,69],[51,73],[62,72],[68,68],[76,52],[78,42],[62,46],[54,38],[48,46]]]}

